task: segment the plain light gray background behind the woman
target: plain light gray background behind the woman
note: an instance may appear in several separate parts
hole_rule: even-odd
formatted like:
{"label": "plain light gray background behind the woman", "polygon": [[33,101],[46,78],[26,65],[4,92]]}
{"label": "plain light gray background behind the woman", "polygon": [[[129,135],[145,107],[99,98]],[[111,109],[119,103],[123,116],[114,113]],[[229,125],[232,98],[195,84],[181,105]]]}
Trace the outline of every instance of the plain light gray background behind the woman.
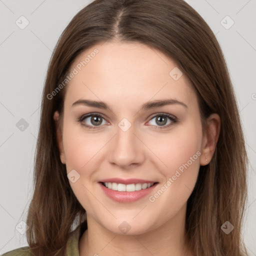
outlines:
{"label": "plain light gray background behind the woman", "polygon": [[[25,220],[32,196],[33,156],[47,65],[62,30],[89,2],[0,0],[0,254],[27,245],[25,234],[15,227],[25,230],[20,221]],[[236,92],[250,161],[243,236],[250,255],[256,255],[256,0],[187,2],[216,35]],[[25,24],[21,15],[29,21],[23,29],[15,23]],[[234,21],[228,29],[231,20],[223,19],[226,15]]]}

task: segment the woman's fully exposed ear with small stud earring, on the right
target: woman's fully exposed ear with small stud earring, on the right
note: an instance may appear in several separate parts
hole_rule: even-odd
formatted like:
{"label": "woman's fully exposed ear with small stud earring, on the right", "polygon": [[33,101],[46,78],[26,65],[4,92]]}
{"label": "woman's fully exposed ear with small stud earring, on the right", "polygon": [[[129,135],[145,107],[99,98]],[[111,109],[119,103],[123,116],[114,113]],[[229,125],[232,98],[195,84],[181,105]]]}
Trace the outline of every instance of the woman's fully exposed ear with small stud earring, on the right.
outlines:
{"label": "woman's fully exposed ear with small stud earring, on the right", "polygon": [[220,117],[213,113],[206,119],[205,132],[202,138],[200,165],[210,162],[215,151],[220,132]]}

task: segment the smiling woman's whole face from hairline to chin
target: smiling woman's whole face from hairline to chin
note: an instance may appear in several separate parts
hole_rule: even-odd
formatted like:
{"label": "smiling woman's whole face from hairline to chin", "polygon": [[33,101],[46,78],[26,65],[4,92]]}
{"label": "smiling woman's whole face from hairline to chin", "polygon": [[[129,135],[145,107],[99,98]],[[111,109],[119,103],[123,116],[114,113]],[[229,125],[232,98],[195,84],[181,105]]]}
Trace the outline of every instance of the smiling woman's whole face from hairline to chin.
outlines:
{"label": "smiling woman's whole face from hairline to chin", "polygon": [[[160,51],[123,42],[86,49],[70,70],[59,148],[87,218],[120,234],[183,219],[206,164],[197,98],[185,75]],[[169,101],[152,104],[161,100]]]}

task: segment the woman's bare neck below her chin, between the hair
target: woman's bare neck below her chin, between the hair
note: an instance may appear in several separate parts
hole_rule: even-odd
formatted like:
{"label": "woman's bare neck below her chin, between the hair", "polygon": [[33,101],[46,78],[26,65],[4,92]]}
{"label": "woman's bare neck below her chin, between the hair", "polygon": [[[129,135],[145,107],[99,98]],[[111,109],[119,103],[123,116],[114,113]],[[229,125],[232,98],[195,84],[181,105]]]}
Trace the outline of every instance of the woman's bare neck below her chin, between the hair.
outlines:
{"label": "woman's bare neck below her chin, between the hair", "polygon": [[79,240],[79,255],[192,256],[185,243],[185,206],[182,213],[179,212],[163,225],[135,235],[113,233],[87,215],[88,228]]}

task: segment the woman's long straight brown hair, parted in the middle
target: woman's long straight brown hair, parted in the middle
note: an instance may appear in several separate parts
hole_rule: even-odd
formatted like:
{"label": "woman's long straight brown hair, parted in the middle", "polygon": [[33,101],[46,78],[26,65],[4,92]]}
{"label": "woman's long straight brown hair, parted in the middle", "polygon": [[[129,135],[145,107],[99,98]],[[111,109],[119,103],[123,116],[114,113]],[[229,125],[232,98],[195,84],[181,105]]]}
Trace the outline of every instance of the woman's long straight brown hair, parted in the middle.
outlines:
{"label": "woman's long straight brown hair, parted in the middle", "polygon": [[[53,113],[62,114],[65,87],[52,99],[47,95],[86,48],[113,40],[144,43],[171,57],[193,85],[202,121],[211,113],[220,116],[214,155],[209,164],[200,166],[187,202],[186,238],[195,255],[244,255],[241,223],[247,155],[235,95],[213,32],[183,0],[95,0],[61,34],[42,96],[34,192],[26,219],[31,251],[37,256],[64,255],[71,226],[80,224],[85,215],[69,185],[56,140]],[[226,220],[234,226],[229,234],[220,228]]]}

